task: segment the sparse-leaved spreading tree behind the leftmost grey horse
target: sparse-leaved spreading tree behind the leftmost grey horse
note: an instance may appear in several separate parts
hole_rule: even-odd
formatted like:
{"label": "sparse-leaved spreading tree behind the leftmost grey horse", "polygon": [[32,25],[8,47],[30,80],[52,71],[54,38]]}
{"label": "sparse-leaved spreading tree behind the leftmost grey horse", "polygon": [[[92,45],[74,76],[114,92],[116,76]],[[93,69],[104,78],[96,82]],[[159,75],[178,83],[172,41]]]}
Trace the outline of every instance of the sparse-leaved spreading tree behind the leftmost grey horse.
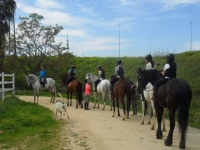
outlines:
{"label": "sparse-leaved spreading tree behind the leftmost grey horse", "polygon": [[[19,19],[21,22],[16,29],[17,59],[25,74],[35,74],[44,65],[46,57],[59,55],[66,49],[62,42],[55,42],[55,36],[63,27],[42,25],[40,22],[44,17],[36,13]],[[14,43],[12,45],[14,48]]]}

